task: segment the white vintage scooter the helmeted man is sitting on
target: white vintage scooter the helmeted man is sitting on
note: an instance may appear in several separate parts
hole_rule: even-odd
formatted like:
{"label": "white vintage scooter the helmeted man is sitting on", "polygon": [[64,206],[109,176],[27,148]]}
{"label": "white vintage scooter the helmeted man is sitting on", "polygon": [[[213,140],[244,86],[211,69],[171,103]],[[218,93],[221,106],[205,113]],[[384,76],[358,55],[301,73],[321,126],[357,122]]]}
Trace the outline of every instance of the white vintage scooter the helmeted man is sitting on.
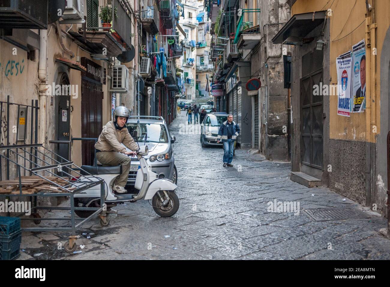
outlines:
{"label": "white vintage scooter the helmeted man is sitting on", "polygon": [[[137,131],[134,131],[134,137],[137,137]],[[97,178],[100,178],[105,181],[105,203],[107,204],[107,208],[123,202],[152,199],[153,209],[158,215],[161,217],[174,215],[179,209],[179,197],[174,192],[177,185],[172,180],[158,178],[158,174],[151,170],[151,167],[143,157],[149,152],[147,145],[139,147],[136,152],[137,158],[140,161],[140,168],[137,171],[135,179],[135,188],[139,190],[138,194],[113,193],[113,183],[119,174],[121,174],[121,166],[81,166],[89,175],[80,176],[79,179],[83,181],[97,181]],[[75,194],[74,203],[75,207],[100,207],[100,185]],[[75,213],[79,217],[86,218],[93,211],[78,210]],[[107,226],[109,220],[101,221],[100,223],[103,226]]]}

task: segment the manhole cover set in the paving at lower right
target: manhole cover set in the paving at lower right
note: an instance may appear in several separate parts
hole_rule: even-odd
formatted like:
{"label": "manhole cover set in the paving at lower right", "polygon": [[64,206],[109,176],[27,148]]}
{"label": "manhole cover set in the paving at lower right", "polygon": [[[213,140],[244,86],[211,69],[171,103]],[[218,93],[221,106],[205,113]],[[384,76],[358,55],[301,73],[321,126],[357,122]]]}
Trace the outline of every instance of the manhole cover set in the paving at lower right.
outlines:
{"label": "manhole cover set in the paving at lower right", "polygon": [[347,208],[312,208],[305,211],[315,221],[369,218],[362,211]]}

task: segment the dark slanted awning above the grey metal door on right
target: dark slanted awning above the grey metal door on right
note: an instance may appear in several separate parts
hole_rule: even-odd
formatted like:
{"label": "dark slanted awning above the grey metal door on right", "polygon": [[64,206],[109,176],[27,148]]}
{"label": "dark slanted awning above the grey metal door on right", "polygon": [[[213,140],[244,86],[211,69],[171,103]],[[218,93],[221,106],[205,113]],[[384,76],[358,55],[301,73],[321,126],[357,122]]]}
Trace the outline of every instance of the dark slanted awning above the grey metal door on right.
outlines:
{"label": "dark slanted awning above the grey metal door on right", "polygon": [[[273,37],[273,44],[292,44],[301,41],[318,25],[324,23],[326,11],[295,14]],[[287,39],[290,38],[290,39]],[[287,40],[287,41],[286,41]]]}

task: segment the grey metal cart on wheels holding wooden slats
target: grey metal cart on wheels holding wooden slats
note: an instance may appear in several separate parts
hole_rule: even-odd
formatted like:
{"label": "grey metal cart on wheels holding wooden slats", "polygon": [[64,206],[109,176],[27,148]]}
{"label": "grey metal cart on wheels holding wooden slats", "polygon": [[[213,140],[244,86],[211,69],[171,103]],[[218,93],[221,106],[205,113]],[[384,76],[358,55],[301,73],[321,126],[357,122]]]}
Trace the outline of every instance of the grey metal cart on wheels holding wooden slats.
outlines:
{"label": "grey metal cart on wheels holding wooden slats", "polygon": [[[4,166],[6,164],[6,166]],[[6,178],[3,180],[2,167],[5,167]],[[82,171],[92,177],[84,178]],[[15,179],[9,180],[10,173],[15,173]],[[80,180],[80,177],[83,179]],[[100,207],[74,206],[74,195],[88,188],[100,185]],[[60,157],[60,155],[45,148],[43,144],[20,144],[0,146],[0,199],[11,197],[31,197],[32,218],[21,220],[33,220],[40,224],[46,220],[70,220],[70,226],[62,227],[28,227],[22,231],[69,231],[71,235],[66,241],[64,249],[71,253],[76,250],[76,229],[88,222],[96,215],[100,218],[102,226],[108,226],[110,220],[106,216],[105,182],[92,174],[87,173],[76,166],[73,161]],[[69,207],[40,206],[37,197],[69,197]],[[43,218],[39,210],[69,210],[70,218]],[[87,218],[76,218],[75,210],[94,211]],[[25,211],[27,213],[28,211]],[[23,215],[23,214],[21,214]],[[76,220],[81,220],[76,224]]]}

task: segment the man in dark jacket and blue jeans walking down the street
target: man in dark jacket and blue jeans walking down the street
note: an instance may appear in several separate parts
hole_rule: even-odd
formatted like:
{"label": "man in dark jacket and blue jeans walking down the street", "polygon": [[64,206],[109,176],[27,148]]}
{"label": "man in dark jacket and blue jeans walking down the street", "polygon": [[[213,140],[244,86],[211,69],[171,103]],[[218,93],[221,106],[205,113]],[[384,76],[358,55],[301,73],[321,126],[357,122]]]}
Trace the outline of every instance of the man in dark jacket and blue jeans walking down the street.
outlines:
{"label": "man in dark jacket and blue jeans walking down the street", "polygon": [[234,141],[236,141],[240,128],[235,121],[233,115],[227,116],[227,121],[224,121],[218,130],[217,143],[222,139],[223,143],[223,167],[233,166]]}

